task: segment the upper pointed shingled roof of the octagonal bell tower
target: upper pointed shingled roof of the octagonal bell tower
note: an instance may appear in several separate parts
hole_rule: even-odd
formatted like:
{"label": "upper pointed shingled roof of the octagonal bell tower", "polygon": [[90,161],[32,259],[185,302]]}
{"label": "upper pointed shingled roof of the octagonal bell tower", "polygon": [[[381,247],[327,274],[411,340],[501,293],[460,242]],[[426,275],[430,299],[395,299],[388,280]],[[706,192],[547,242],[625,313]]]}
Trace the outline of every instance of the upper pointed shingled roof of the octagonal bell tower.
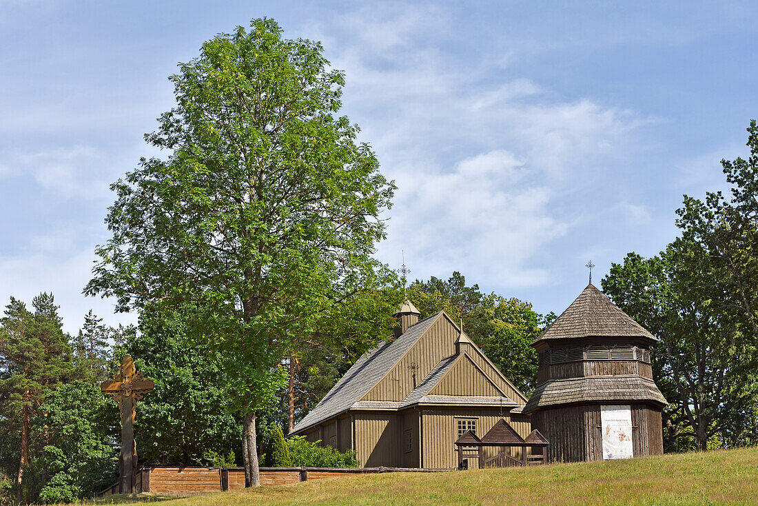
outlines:
{"label": "upper pointed shingled roof of the octagonal bell tower", "polygon": [[657,341],[642,325],[619,309],[603,292],[588,284],[561,316],[534,343],[572,338],[647,338]]}

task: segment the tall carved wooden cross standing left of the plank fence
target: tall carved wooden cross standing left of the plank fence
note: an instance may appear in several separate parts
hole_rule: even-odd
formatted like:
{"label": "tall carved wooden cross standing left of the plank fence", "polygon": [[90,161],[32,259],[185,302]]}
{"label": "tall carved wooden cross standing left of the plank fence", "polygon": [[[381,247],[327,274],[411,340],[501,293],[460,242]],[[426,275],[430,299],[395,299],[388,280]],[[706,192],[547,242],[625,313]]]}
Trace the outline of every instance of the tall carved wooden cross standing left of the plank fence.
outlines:
{"label": "tall carved wooden cross standing left of the plank fence", "polygon": [[129,355],[121,360],[121,371],[114,374],[113,379],[100,384],[100,390],[104,394],[118,398],[118,407],[121,409],[121,454],[118,457],[121,494],[134,492],[137,465],[137,448],[134,442],[136,401],[151,391],[154,386],[152,379],[143,378],[142,373],[137,372],[134,361]]}

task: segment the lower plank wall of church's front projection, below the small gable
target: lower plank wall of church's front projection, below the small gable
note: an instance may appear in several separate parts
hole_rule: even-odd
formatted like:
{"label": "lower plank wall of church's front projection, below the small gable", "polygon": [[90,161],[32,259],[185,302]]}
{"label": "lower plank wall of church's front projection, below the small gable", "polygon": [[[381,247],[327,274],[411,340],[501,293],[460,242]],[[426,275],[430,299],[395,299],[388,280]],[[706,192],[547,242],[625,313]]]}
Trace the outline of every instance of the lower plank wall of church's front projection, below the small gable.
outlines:
{"label": "lower plank wall of church's front projection, below the small gable", "polygon": [[[483,437],[501,419],[510,423],[522,438],[531,432],[531,423],[512,421],[507,409],[501,414],[500,408],[441,407],[424,409],[421,413],[424,435],[432,435],[432,437],[424,437],[423,467],[443,469],[458,466],[458,455],[454,443],[459,437],[458,420],[461,419],[477,420],[476,435],[479,438]],[[501,451],[503,448],[485,448],[485,455],[493,457]],[[522,456],[521,450],[517,448],[513,448],[509,454],[518,458]],[[471,468],[478,467],[476,459],[469,460],[469,464]]]}

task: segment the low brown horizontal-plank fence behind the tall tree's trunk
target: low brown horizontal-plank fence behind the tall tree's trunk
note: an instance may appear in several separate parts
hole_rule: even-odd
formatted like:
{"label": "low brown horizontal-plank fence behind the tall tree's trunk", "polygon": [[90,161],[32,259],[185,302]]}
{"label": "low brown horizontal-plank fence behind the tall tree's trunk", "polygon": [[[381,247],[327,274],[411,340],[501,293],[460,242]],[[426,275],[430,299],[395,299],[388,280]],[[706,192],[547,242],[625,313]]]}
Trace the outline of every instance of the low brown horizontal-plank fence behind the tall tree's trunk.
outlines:
{"label": "low brown horizontal-plank fence behind the tall tree's trunk", "polygon": [[[313,479],[371,473],[434,473],[451,469],[406,467],[261,467],[261,485],[290,485]],[[202,494],[245,488],[243,467],[143,467],[136,473],[136,492],[161,495]],[[118,483],[98,496],[118,493]]]}

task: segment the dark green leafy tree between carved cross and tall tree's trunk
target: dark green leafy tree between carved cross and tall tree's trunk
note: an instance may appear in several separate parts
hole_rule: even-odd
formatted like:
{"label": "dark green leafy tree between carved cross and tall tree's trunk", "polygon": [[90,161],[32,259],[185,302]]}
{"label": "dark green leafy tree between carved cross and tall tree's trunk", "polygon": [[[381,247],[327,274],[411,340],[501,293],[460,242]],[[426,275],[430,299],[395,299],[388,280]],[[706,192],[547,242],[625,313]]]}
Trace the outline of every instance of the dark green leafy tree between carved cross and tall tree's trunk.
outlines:
{"label": "dark green leafy tree between carved cross and tall tree's trunk", "polygon": [[111,369],[121,357],[134,357],[137,369],[155,381],[139,401],[135,438],[139,456],[160,464],[198,465],[205,453],[239,448],[240,418],[232,413],[224,361],[202,335],[190,334],[193,308],[171,314],[143,310],[139,334],[116,348]]}

